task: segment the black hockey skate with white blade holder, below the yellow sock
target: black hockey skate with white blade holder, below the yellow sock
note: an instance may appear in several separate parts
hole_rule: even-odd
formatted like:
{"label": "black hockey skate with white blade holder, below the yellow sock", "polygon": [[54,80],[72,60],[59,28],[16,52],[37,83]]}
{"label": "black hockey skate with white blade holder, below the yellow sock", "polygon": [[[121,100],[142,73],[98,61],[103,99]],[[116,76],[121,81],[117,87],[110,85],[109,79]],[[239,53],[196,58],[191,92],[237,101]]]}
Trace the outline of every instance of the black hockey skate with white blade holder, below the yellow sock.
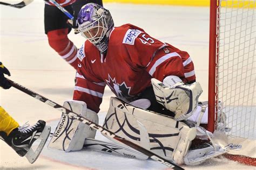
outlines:
{"label": "black hockey skate with white blade holder, below the yellow sock", "polygon": [[[0,132],[0,138],[11,146],[21,157],[26,155],[31,164],[35,162],[43,149],[50,133],[50,126],[45,126],[45,122],[39,120],[35,125],[28,127],[28,124],[21,128],[14,129],[9,136],[5,132]],[[41,139],[41,143],[34,152],[31,148],[35,140]]]}

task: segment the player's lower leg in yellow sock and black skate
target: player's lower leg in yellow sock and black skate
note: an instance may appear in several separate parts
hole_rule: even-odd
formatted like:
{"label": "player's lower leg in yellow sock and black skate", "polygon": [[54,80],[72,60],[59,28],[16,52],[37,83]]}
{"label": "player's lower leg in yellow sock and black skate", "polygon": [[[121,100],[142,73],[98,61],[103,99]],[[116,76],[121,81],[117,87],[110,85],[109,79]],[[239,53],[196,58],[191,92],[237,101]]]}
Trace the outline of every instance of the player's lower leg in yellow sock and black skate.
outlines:
{"label": "player's lower leg in yellow sock and black skate", "polygon": [[[36,161],[42,151],[50,133],[50,126],[45,126],[45,122],[39,120],[33,126],[22,126],[12,118],[2,107],[0,107],[0,139],[11,146],[21,157],[25,157],[31,162]],[[37,139],[41,139],[35,151],[31,146]]]}

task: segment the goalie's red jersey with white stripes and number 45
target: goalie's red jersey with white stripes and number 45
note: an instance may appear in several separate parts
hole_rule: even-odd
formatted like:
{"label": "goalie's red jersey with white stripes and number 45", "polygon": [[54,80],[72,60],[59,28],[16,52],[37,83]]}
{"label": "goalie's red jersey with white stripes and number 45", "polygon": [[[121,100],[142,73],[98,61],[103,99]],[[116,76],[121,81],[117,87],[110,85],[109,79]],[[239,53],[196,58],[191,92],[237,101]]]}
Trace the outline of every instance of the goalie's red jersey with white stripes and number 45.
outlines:
{"label": "goalie's red jersey with white stripes and number 45", "polygon": [[114,27],[107,47],[103,55],[85,41],[78,51],[73,100],[84,101],[93,111],[99,112],[106,85],[118,98],[131,101],[152,86],[152,77],[163,81],[166,76],[176,75],[184,82],[196,80],[187,52],[152,38],[137,26]]}

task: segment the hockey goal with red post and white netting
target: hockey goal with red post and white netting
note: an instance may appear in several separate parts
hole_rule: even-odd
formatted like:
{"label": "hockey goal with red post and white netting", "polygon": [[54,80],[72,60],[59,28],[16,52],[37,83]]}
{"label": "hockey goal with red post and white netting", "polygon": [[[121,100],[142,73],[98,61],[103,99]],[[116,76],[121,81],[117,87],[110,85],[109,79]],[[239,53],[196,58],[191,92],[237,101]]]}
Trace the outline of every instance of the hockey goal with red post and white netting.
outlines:
{"label": "hockey goal with red post and white netting", "polygon": [[[225,133],[233,144],[242,149],[252,145],[249,149],[254,153],[238,151],[234,153],[236,157],[230,155],[231,159],[251,165],[256,164],[255,4],[255,0],[211,0],[208,75],[208,130],[225,131],[217,126],[222,122],[231,129]],[[224,114],[217,117],[219,107],[226,118]]]}

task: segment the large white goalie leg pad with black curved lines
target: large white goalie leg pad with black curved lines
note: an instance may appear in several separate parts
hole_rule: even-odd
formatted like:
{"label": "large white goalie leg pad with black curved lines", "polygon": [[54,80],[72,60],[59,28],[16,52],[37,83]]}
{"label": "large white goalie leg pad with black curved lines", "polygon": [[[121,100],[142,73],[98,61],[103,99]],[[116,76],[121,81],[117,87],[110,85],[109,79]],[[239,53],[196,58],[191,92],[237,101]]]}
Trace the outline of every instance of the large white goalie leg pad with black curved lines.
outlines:
{"label": "large white goalie leg pad with black curved lines", "polygon": [[196,137],[196,130],[183,122],[134,107],[114,97],[111,97],[103,126],[120,137],[177,162],[183,162],[191,140]]}

